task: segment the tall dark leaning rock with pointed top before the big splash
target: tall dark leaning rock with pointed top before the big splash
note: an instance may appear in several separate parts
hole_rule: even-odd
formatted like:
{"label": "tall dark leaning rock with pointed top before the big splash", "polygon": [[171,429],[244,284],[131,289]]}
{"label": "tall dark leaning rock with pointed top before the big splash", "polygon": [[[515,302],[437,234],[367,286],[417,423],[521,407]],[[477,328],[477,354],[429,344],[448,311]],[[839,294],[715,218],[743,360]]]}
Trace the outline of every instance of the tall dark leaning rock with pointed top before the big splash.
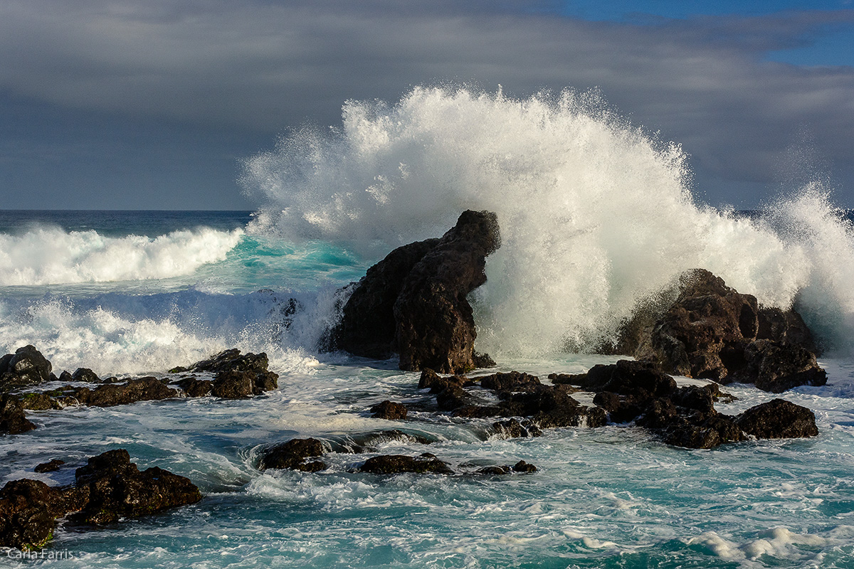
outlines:
{"label": "tall dark leaning rock with pointed top before the big splash", "polygon": [[476,354],[466,296],[486,282],[486,257],[500,246],[497,218],[466,211],[440,239],[398,247],[344,305],[333,344],[357,356],[400,354],[400,368],[461,373],[491,362]]}

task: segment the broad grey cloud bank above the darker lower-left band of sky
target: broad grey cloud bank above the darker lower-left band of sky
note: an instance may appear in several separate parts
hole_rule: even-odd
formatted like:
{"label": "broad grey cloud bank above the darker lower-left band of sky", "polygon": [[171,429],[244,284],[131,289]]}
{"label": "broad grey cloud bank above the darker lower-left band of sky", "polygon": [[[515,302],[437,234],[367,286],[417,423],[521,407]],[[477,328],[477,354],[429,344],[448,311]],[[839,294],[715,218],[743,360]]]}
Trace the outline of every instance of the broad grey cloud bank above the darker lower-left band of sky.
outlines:
{"label": "broad grey cloud bank above the darker lower-left band of sky", "polygon": [[612,23],[557,9],[9,1],[0,4],[0,89],[272,136],[304,120],[337,123],[346,99],[394,101],[413,84],[473,80],[517,96],[600,86],[636,123],[681,142],[699,177],[769,182],[804,131],[832,167],[854,176],[854,68],[763,60],[850,28],[854,11]]}

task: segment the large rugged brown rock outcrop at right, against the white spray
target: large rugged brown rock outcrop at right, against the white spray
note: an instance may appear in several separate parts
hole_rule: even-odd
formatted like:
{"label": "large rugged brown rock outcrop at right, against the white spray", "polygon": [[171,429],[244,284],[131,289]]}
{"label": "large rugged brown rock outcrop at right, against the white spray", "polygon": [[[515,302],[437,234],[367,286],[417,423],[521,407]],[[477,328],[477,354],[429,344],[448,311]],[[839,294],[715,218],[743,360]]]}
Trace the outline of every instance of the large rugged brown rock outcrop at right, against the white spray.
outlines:
{"label": "large rugged brown rock outcrop at right, against the white spray", "polygon": [[676,301],[655,322],[624,328],[637,334],[620,342],[636,345],[630,355],[665,373],[755,383],[769,392],[827,382],[797,312],[760,307],[707,270],[683,275]]}

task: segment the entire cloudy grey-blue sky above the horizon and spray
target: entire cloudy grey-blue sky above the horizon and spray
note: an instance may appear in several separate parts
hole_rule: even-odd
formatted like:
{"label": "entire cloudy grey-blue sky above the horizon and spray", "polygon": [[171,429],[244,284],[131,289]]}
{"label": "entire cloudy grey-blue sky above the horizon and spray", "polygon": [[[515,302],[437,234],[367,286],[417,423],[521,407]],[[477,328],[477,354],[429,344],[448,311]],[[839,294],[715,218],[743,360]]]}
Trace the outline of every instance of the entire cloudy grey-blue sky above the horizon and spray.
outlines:
{"label": "entire cloudy grey-blue sky above the horizon and spray", "polygon": [[254,209],[242,160],[447,82],[599,88],[713,206],[854,208],[854,0],[0,0],[0,198]]}

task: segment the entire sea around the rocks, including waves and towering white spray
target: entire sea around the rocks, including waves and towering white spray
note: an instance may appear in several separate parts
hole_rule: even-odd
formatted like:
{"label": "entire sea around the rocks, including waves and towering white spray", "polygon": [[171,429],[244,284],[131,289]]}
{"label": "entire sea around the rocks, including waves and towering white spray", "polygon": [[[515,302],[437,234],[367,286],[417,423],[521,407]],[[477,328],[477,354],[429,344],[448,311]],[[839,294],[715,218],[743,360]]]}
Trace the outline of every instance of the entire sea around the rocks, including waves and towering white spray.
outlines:
{"label": "entire sea around the rocks, including waves and towering white spray", "polygon": [[[854,566],[854,239],[830,190],[792,189],[761,215],[702,206],[678,146],[594,94],[516,101],[415,89],[393,106],[348,102],[342,125],[303,129],[248,160],[257,212],[2,212],[0,351],[36,345],[63,369],[162,375],[231,347],[266,351],[279,389],[249,400],[175,399],[28,412],[0,438],[0,480],[73,481],[86,457],[126,448],[190,478],[196,505],[81,531],[61,524],[56,567]],[[498,370],[580,373],[617,324],[693,267],[764,305],[801,311],[828,385],[781,394],[816,412],[816,438],[715,450],[640,427],[497,438],[488,420],[436,411],[393,359],[321,353],[336,291],[393,247],[441,235],[466,208],[499,216],[500,250],[471,294],[477,348]],[[298,310],[291,313],[288,307]],[[679,378],[681,382],[687,382]],[[728,386],[737,414],[776,397]],[[406,422],[371,418],[383,399]],[[459,475],[260,472],[266,444],[376,438],[373,453],[430,451]],[[55,473],[33,473],[59,458]],[[533,474],[466,474],[534,463]]]}

